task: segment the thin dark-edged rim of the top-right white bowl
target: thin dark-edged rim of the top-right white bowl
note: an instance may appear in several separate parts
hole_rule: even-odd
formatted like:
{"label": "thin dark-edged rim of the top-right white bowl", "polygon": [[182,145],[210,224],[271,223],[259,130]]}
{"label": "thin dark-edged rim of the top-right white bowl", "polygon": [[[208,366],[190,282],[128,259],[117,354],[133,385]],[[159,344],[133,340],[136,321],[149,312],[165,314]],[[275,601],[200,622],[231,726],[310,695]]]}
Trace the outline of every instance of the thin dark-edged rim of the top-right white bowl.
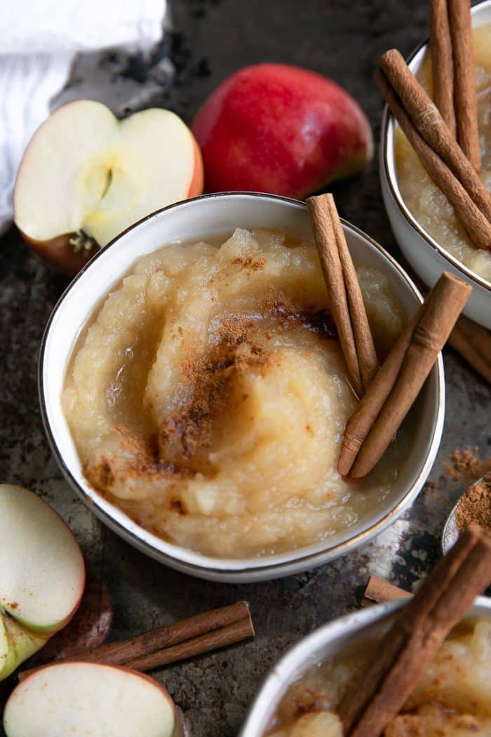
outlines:
{"label": "thin dark-edged rim of the top-right white bowl", "polygon": [[[491,4],[491,0],[478,0],[475,4],[471,7],[471,12],[474,13],[478,9],[480,9],[481,6],[487,6]],[[418,43],[416,48],[409,54],[408,57],[406,57],[406,63],[408,66],[411,66],[411,62],[416,57],[425,46],[428,46],[429,38],[425,38],[423,41]],[[451,263],[451,265],[459,270],[464,276],[467,277],[467,279],[470,279],[473,282],[476,282],[480,287],[483,289],[491,292],[491,282],[488,282],[487,279],[484,279],[484,276],[480,276],[476,271],[473,271],[468,266],[462,263],[462,261],[459,261],[459,259],[456,258],[456,256],[453,256],[449,251],[447,251],[442,245],[439,244],[437,240],[434,240],[434,237],[432,237],[429,233],[425,231],[423,226],[418,223],[414,215],[409,210],[409,207],[406,205],[406,203],[403,200],[403,196],[400,193],[400,189],[398,186],[397,181],[393,181],[392,177],[392,171],[391,167],[389,167],[389,155],[394,157],[394,134],[392,133],[392,140],[391,140],[391,146],[389,151],[389,125],[392,125],[392,129],[394,128],[394,116],[389,111],[389,105],[384,105],[384,111],[382,113],[382,123],[381,123],[381,163],[384,167],[384,174],[386,178],[386,182],[389,186],[390,193],[392,195],[393,200],[395,201],[396,205],[398,206],[398,209],[400,211],[400,214],[403,215],[403,217],[408,221],[409,225],[414,228],[415,231],[417,231],[418,234],[425,240],[428,246],[432,248],[434,251],[437,251],[437,254],[439,256],[443,256],[444,259],[446,259],[448,262]],[[395,166],[394,166],[394,172],[395,172]]]}

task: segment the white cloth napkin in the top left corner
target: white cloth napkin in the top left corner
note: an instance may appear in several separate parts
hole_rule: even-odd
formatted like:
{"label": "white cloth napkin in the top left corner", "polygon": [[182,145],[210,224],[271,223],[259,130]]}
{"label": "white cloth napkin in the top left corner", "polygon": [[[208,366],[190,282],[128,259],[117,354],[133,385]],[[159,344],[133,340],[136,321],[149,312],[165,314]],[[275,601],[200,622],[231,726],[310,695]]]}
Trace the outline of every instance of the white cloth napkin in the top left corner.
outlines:
{"label": "white cloth napkin in the top left corner", "polygon": [[149,49],[166,0],[12,0],[0,15],[0,233],[13,217],[22,154],[78,52]]}

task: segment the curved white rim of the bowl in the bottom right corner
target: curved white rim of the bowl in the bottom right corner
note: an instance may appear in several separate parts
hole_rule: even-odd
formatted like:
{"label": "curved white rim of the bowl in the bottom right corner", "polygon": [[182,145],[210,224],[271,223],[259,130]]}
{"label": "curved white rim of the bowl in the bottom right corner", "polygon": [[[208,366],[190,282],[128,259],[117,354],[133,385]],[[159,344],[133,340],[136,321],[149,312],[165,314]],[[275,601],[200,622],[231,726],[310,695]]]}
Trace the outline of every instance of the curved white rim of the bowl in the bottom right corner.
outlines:
{"label": "curved white rim of the bowl in the bottom right corner", "polygon": [[[314,632],[305,635],[297,643],[286,649],[286,652],[270,668],[261,683],[258,694],[255,696],[247,712],[246,720],[242,725],[239,737],[262,737],[267,726],[264,722],[267,722],[267,719],[272,715],[272,705],[275,707],[278,705],[286,688],[292,685],[297,678],[301,677],[301,674],[308,668],[305,660],[311,660],[311,656],[315,652],[320,652],[322,646],[325,646],[328,642],[335,641],[340,635],[356,635],[359,630],[395,614],[406,603],[407,600],[405,598],[400,598],[394,601],[386,601],[384,604],[373,604],[370,607],[358,609],[355,612],[348,612],[327,624],[322,624],[317,629],[314,629]],[[479,608],[486,609],[491,618],[491,599],[487,596],[477,596],[467,615],[464,615],[464,619],[480,616],[473,614]],[[318,662],[321,660],[322,657],[319,657]],[[314,663],[317,661],[312,659],[311,662]],[[292,674],[294,673],[296,677],[292,679]],[[281,694],[279,694],[280,691]]]}

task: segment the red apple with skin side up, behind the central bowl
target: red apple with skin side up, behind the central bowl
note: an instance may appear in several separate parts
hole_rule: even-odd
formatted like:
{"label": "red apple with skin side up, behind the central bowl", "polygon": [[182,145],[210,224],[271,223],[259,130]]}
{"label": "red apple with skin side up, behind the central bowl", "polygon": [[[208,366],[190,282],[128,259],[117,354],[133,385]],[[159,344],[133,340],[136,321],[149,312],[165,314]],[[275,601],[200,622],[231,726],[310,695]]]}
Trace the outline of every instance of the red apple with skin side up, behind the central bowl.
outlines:
{"label": "red apple with skin side up, behind the central bowl", "polygon": [[372,156],[367,117],[314,71],[257,64],[208,97],[191,125],[207,192],[269,192],[303,199],[360,170]]}

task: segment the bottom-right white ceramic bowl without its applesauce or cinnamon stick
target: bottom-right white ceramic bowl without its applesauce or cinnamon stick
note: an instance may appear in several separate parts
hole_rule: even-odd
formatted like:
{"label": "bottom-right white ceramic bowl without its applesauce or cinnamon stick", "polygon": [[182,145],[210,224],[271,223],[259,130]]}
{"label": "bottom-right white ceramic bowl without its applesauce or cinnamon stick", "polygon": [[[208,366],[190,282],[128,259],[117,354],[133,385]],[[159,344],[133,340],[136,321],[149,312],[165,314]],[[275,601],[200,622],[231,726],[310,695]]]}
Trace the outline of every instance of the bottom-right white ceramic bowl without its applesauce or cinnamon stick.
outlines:
{"label": "bottom-right white ceramic bowl without its applesauce or cinnamon stick", "polygon": [[[239,737],[262,737],[286,689],[316,663],[367,638],[381,637],[406,604],[403,599],[375,604],[316,629],[281,658],[266,677]],[[467,618],[491,619],[491,599],[478,596]]]}

